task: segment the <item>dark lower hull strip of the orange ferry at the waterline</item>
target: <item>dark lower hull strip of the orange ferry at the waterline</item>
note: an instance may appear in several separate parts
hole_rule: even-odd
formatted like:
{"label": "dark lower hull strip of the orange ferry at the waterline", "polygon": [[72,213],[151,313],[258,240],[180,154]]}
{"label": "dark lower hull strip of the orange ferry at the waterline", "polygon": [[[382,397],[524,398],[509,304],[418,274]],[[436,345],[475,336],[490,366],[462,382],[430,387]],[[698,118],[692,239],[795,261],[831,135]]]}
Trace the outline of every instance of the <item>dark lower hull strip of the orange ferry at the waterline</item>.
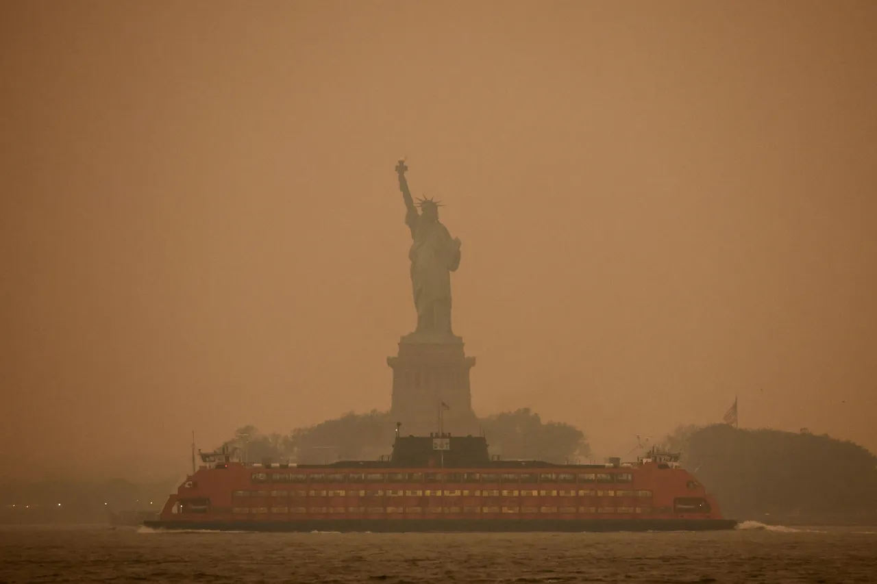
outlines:
{"label": "dark lower hull strip of the orange ferry at the waterline", "polygon": [[147,527],[205,531],[562,532],[562,531],[722,531],[733,519],[321,519],[313,521],[146,521]]}

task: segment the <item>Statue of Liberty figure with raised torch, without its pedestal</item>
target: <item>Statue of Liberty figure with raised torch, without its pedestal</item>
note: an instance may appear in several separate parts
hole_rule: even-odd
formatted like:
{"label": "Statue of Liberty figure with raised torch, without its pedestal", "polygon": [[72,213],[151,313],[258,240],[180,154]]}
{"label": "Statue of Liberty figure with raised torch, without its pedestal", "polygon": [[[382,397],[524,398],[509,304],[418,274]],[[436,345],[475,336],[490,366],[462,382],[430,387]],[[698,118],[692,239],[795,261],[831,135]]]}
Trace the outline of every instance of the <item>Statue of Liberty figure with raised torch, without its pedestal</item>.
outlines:
{"label": "Statue of Liberty figure with raised torch, without its pedestal", "polygon": [[417,329],[408,338],[426,342],[459,341],[451,329],[451,272],[460,266],[460,239],[451,239],[445,225],[439,222],[439,201],[423,198],[414,203],[405,179],[406,170],[405,161],[399,160],[396,173],[405,202],[405,224],[413,239],[408,257],[417,308]]}

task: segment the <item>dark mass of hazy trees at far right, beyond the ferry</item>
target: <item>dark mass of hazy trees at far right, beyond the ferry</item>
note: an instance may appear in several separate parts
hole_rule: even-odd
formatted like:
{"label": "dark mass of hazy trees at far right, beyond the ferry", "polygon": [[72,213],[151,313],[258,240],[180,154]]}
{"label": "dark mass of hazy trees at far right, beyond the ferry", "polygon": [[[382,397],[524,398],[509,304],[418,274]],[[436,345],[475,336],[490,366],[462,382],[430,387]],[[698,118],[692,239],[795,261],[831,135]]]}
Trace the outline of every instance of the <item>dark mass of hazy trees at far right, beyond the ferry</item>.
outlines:
{"label": "dark mass of hazy trees at far right, beyond the ferry", "polygon": [[677,429],[683,463],[736,518],[877,514],[877,458],[852,442],[809,433]]}

